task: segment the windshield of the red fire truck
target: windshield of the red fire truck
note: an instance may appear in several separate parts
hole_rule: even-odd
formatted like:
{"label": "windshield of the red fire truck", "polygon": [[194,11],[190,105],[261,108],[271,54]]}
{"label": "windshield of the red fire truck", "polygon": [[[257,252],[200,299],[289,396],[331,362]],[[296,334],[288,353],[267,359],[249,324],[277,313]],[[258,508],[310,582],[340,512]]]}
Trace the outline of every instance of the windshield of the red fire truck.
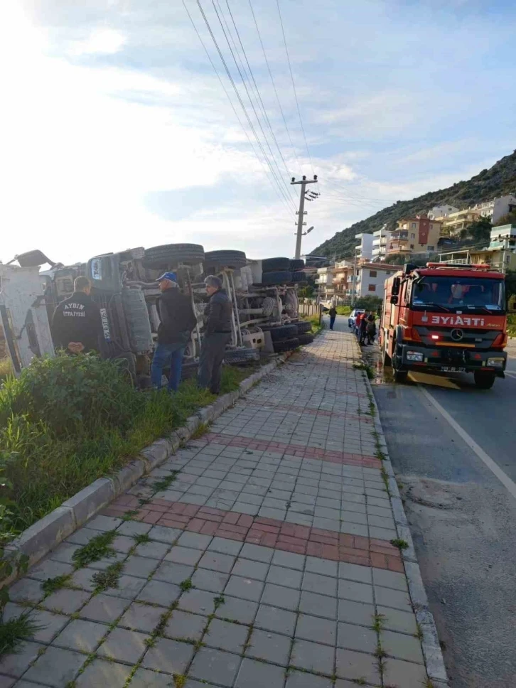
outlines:
{"label": "windshield of the red fire truck", "polygon": [[416,310],[438,306],[442,310],[505,310],[505,289],[501,279],[426,275],[412,286],[412,307]]}

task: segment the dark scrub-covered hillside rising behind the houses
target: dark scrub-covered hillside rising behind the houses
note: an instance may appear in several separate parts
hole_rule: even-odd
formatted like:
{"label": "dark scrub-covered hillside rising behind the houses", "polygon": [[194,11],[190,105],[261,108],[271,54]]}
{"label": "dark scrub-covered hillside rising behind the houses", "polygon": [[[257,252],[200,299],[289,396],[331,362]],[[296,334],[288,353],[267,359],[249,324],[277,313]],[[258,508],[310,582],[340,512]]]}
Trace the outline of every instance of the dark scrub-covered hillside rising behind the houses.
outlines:
{"label": "dark scrub-covered hillside rising behind the houses", "polygon": [[394,229],[397,220],[419,213],[427,213],[434,205],[449,203],[456,208],[468,208],[470,205],[490,200],[495,196],[516,193],[516,151],[505,156],[488,170],[483,170],[469,181],[459,181],[447,189],[430,191],[412,200],[399,200],[394,205],[380,210],[366,220],[355,222],[342,232],[313,249],[317,256],[343,257],[353,253],[355,234],[366,232],[371,234],[387,223],[387,229]]}

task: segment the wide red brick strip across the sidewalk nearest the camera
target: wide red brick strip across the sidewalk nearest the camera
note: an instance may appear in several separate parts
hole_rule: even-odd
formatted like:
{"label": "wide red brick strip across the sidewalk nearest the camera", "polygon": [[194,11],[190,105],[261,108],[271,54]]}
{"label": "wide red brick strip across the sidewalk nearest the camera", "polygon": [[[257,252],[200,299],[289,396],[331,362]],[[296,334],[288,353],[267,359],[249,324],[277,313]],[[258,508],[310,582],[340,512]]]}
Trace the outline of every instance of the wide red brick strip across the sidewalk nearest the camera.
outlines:
{"label": "wide red brick strip across the sidewalk nearest the camera", "polygon": [[[136,497],[124,495],[104,510],[103,514],[120,518],[139,505]],[[347,561],[349,564],[374,566],[400,573],[404,571],[399,550],[386,540],[163,499],[151,500],[143,505],[134,518],[151,525],[225,537],[321,559]]]}

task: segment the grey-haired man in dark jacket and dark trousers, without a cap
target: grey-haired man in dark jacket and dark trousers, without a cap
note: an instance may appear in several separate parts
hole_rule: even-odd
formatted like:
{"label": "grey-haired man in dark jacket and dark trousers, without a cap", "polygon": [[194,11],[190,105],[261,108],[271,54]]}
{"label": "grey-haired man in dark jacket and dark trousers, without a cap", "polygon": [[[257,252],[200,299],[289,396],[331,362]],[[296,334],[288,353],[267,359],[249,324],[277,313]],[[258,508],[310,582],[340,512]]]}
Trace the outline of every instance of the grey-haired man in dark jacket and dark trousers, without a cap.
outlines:
{"label": "grey-haired man in dark jacket and dark trousers, without a cap", "polygon": [[210,296],[205,311],[203,345],[200,350],[198,383],[199,387],[210,389],[212,394],[220,393],[222,361],[226,345],[231,341],[231,316],[233,306],[224,289],[222,281],[215,275],[208,275],[204,284]]}

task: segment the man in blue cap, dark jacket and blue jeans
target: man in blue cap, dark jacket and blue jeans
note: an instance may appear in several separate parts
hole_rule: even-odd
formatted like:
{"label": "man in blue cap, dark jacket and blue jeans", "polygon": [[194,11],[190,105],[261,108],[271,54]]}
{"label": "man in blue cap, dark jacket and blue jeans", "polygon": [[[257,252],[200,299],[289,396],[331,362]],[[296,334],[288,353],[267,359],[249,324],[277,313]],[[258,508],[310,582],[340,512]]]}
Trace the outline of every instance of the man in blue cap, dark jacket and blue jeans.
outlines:
{"label": "man in blue cap, dark jacket and blue jeans", "polygon": [[158,345],[152,359],[151,382],[155,389],[161,389],[163,367],[170,365],[168,392],[177,392],[181,382],[181,369],[185,348],[190,339],[196,318],[192,302],[179,291],[177,276],[166,272],[158,277],[161,296],[158,299]]}

